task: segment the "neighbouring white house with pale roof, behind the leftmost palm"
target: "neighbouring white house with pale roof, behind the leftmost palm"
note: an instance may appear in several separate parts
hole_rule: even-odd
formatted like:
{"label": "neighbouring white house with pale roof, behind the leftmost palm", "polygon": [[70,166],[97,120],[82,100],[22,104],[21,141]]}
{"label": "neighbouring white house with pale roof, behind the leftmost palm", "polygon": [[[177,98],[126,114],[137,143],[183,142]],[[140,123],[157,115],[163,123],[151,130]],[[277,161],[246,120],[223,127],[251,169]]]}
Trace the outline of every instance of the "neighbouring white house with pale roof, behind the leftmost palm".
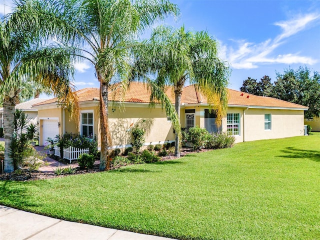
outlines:
{"label": "neighbouring white house with pale roof, behind the leftmost palm", "polygon": [[[38,122],[38,109],[32,105],[42,102],[46,99],[34,98],[28,101],[20,102],[15,105],[15,109],[20,109],[27,114],[30,119],[29,123],[36,124]],[[3,127],[3,107],[0,108],[0,127]]]}

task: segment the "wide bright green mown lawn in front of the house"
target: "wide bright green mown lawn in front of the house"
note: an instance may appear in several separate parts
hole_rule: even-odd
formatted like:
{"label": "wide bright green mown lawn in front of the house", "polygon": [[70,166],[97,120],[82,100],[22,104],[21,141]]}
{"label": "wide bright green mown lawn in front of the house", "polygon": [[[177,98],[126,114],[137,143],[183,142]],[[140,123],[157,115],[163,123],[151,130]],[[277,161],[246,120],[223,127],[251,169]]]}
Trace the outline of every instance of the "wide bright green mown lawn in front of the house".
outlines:
{"label": "wide bright green mown lawn in front of the house", "polygon": [[28,182],[0,203],[179,239],[320,239],[320,134]]}

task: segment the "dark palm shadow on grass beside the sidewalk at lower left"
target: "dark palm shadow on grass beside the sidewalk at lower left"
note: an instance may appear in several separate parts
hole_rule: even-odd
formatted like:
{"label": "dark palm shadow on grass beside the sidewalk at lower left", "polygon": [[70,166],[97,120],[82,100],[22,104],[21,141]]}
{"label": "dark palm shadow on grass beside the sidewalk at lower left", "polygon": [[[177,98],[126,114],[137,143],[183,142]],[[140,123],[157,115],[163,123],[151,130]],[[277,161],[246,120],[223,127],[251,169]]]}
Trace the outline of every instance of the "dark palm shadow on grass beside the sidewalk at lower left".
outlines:
{"label": "dark palm shadow on grass beside the sidewalk at lower left", "polygon": [[18,209],[40,206],[28,187],[36,184],[34,181],[0,181],[0,202]]}

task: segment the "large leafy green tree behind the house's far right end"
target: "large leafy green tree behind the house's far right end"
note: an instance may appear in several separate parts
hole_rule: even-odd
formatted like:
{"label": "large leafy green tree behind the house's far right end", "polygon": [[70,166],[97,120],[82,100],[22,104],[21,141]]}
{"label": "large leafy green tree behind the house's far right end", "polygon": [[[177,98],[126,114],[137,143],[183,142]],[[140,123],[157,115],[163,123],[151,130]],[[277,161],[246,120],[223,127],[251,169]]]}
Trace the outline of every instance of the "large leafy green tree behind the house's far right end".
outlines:
{"label": "large leafy green tree behind the house's far right end", "polygon": [[272,96],[281,100],[308,106],[304,112],[305,117],[318,116],[320,114],[320,74],[311,72],[307,67],[299,67],[297,70],[288,68],[284,73],[276,73],[276,81],[272,90]]}

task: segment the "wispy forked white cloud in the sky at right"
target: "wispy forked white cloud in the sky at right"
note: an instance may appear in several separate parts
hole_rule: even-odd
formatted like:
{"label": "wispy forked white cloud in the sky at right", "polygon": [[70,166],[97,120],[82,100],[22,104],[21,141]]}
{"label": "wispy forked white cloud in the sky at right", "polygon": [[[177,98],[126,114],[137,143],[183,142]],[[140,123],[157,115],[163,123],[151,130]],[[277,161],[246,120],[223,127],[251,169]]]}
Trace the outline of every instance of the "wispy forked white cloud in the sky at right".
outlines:
{"label": "wispy forked white cloud in the sky at right", "polygon": [[318,62],[317,59],[300,55],[300,53],[285,53],[276,56],[272,56],[271,54],[278,46],[285,43],[285,38],[302,31],[317,19],[320,19],[319,14],[306,14],[287,21],[276,22],[274,25],[280,26],[282,32],[273,39],[267,39],[260,43],[252,43],[246,40],[232,40],[236,42],[236,48],[221,44],[220,49],[222,51],[220,52],[220,57],[223,60],[229,61],[231,67],[236,69],[257,68],[258,63],[314,64]]}

